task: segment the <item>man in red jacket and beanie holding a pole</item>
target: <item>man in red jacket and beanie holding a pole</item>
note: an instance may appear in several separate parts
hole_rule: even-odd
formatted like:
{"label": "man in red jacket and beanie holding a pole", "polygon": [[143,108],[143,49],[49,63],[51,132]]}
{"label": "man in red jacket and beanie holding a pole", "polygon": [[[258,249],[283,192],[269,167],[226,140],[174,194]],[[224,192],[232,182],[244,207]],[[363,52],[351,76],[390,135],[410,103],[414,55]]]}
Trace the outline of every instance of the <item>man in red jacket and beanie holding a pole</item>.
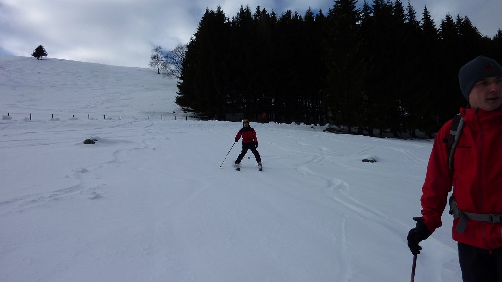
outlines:
{"label": "man in red jacket and beanie holding a pole", "polygon": [[[464,282],[502,281],[502,67],[479,56],[458,73],[460,90],[469,105],[460,108],[461,130],[447,121],[434,140],[422,187],[422,216],[414,217],[408,233],[414,255],[442,225],[448,193],[453,214],[453,239]],[[453,127],[452,127],[452,124]],[[450,129],[452,132],[450,132]],[[451,151],[450,133],[461,134]]]}

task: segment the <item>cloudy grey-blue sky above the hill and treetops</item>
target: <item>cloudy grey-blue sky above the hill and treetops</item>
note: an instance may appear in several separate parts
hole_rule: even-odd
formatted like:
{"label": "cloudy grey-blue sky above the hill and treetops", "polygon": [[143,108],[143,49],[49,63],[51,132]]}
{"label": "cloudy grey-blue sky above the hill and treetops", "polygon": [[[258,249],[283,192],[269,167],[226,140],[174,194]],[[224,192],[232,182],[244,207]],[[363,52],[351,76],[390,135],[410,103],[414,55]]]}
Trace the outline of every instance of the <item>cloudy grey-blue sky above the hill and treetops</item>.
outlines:
{"label": "cloudy grey-blue sky above the hill and treetops", "polygon": [[[436,24],[446,14],[467,16],[481,34],[502,29],[502,0],[411,0],[417,18],[424,6]],[[371,0],[367,1],[369,4]],[[394,2],[394,1],[393,1]],[[408,1],[402,0],[405,7]],[[333,0],[0,0],[0,55],[31,56],[42,44],[50,58],[147,67],[151,50],[188,43],[206,8],[227,17],[257,6],[282,14],[326,13]],[[362,5],[359,1],[358,5]]]}

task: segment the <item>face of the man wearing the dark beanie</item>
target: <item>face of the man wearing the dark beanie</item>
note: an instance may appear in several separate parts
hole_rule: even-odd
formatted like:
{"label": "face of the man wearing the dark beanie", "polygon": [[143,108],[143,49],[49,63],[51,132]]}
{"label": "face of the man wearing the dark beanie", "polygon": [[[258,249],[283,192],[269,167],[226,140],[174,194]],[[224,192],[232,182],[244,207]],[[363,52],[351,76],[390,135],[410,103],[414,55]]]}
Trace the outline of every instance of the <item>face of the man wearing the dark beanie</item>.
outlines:
{"label": "face of the man wearing the dark beanie", "polygon": [[473,108],[491,111],[502,103],[502,76],[485,78],[474,84],[469,94],[469,104]]}

